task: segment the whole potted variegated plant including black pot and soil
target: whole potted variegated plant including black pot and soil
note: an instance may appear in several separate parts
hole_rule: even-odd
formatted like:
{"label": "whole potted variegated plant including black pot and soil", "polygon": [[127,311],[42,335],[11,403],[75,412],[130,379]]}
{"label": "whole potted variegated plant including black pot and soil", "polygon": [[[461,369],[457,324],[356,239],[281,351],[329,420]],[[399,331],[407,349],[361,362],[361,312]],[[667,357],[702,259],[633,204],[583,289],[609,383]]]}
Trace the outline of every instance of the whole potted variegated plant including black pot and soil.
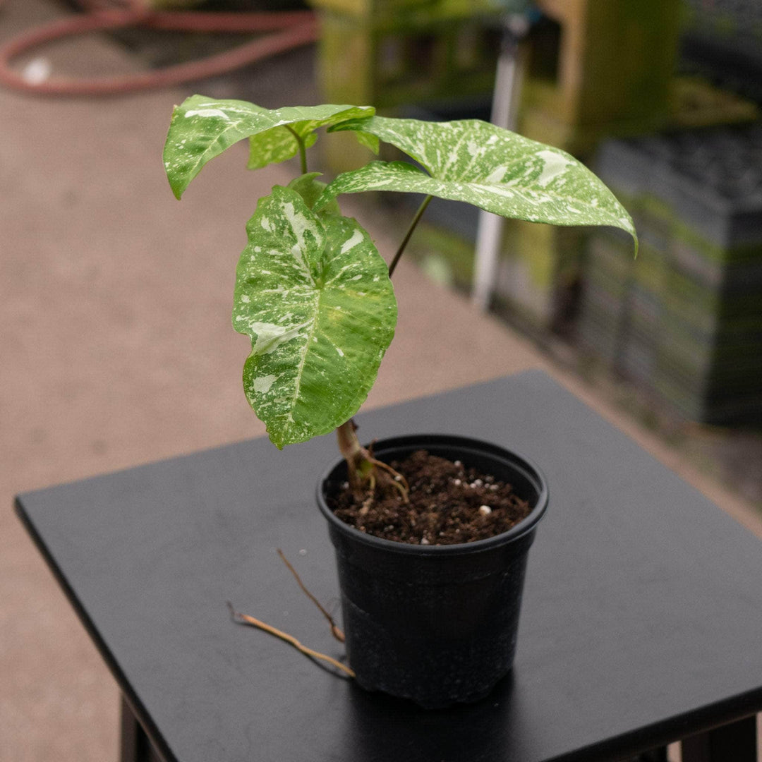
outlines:
{"label": "whole potted variegated plant including black pot and soil", "polygon": [[[324,126],[375,152],[388,142],[417,164],[373,161],[325,184],[306,163]],[[511,668],[548,489],[536,466],[489,443],[360,443],[352,417],[394,335],[390,277],[434,196],[536,223],[617,226],[637,245],[632,220],[571,155],[479,120],[392,119],[347,105],[267,110],[201,95],[172,115],[164,162],[175,196],[246,138],[249,168],[299,155],[301,174],[248,220],[232,314],[251,337],[243,385],[279,448],[337,431],[342,459],[319,483],[318,504],[337,553],[351,668],[363,687],[421,706],[475,700]],[[339,209],[338,196],[361,191],[424,194],[389,267]]]}

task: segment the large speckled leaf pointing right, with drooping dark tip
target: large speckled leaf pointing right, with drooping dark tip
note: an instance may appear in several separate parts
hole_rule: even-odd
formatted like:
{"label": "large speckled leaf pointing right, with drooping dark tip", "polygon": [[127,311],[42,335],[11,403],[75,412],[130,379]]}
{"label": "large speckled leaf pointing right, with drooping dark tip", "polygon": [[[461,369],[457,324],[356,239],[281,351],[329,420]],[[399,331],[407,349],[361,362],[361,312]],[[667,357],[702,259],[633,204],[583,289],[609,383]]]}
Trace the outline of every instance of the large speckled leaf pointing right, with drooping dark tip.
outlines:
{"label": "large speckled leaf pointing right, with drooping dark tip", "polygon": [[554,225],[610,225],[632,219],[602,181],[565,151],[480,120],[370,119],[337,125],[392,143],[429,174],[405,162],[371,162],[340,174],[315,208],[344,193],[408,191],[466,201],[505,217]]}

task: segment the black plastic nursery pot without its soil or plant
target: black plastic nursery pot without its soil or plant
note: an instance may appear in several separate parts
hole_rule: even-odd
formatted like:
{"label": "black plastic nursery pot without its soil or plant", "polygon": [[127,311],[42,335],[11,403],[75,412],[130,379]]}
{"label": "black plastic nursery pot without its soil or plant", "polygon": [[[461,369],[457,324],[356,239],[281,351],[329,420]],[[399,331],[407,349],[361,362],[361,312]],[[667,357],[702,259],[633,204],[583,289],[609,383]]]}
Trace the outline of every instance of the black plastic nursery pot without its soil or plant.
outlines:
{"label": "black plastic nursery pot without its soil or plant", "polygon": [[373,452],[390,461],[421,449],[511,483],[533,506],[510,531],[489,539],[408,545],[362,533],[331,512],[325,497],[347,479],[343,460],[319,482],[357,683],[439,709],[482,698],[511,669],[527,553],[548,487],[527,459],[466,437],[397,437]]}

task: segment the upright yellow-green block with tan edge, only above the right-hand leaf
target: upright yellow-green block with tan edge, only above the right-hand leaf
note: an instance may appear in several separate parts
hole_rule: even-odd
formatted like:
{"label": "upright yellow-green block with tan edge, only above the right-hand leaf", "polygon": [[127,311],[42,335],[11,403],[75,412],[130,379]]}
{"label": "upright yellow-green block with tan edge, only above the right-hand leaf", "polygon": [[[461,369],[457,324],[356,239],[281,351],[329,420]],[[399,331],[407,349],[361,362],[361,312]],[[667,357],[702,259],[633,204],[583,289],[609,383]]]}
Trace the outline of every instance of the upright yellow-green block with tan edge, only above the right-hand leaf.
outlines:
{"label": "upright yellow-green block with tan edge, only above the right-hand leaf", "polygon": [[680,0],[539,0],[520,133],[575,155],[658,130],[671,110]]}

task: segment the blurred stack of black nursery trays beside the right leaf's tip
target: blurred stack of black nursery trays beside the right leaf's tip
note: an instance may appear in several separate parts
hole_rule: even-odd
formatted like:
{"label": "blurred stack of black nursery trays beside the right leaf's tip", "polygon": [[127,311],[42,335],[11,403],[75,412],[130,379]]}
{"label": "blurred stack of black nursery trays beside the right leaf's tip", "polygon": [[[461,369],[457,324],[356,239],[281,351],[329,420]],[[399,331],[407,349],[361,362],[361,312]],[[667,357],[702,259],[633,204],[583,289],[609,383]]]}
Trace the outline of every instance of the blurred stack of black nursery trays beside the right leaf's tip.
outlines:
{"label": "blurred stack of black nursery trays beside the right leaf's tip", "polygon": [[694,421],[762,419],[762,123],[610,140],[641,246],[591,239],[579,339]]}

